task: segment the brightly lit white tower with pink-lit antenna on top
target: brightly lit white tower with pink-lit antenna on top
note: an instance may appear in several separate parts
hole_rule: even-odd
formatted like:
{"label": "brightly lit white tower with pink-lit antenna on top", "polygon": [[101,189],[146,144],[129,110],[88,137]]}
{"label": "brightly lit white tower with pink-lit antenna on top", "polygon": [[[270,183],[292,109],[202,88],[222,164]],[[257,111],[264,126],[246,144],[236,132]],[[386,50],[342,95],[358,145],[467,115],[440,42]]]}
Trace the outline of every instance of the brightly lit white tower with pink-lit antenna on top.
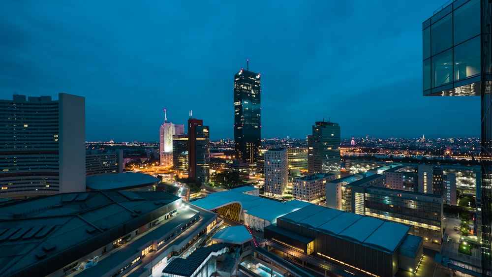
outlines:
{"label": "brightly lit white tower with pink-lit antenna on top", "polygon": [[159,128],[159,160],[161,166],[173,164],[173,136],[184,134],[184,124],[177,125],[167,121],[164,109],[164,123]]}

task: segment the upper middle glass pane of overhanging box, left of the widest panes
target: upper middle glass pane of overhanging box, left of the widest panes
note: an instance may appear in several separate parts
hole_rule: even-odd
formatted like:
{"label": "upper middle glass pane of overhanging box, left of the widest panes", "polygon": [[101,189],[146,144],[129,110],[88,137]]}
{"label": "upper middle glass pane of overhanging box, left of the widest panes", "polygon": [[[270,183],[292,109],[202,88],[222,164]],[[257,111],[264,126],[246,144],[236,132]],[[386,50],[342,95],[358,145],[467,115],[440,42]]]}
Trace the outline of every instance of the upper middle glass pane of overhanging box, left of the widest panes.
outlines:
{"label": "upper middle glass pane of overhanging box, left of the widest panes", "polygon": [[453,46],[453,18],[452,13],[446,15],[431,25],[432,55],[440,53]]}

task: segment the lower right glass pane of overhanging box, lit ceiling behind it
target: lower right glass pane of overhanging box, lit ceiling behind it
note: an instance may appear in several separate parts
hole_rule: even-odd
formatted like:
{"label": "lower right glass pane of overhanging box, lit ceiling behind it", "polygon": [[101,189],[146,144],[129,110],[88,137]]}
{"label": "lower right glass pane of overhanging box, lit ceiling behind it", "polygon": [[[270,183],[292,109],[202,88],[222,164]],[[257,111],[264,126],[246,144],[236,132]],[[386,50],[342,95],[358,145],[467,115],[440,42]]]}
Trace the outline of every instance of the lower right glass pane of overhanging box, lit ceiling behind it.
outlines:
{"label": "lower right glass pane of overhanging box, lit ceiling behind it", "polygon": [[455,80],[480,74],[480,36],[455,46]]}

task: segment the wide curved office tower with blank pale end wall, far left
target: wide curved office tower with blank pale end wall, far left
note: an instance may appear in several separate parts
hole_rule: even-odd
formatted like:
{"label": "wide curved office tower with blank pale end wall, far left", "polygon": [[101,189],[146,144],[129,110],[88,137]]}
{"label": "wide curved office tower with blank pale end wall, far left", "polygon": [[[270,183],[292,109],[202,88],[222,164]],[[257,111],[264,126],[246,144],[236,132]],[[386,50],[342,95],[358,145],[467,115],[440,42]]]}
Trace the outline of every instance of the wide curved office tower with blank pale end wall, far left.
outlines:
{"label": "wide curved office tower with blank pale end wall, far left", "polygon": [[85,98],[0,100],[0,197],[86,189]]}

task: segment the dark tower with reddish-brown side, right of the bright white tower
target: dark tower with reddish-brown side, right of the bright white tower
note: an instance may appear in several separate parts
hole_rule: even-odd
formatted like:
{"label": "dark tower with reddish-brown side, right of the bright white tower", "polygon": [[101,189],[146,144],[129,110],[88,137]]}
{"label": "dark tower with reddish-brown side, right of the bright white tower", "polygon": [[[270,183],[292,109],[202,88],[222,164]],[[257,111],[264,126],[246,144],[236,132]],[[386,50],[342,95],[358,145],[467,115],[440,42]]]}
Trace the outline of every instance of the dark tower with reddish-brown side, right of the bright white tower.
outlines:
{"label": "dark tower with reddish-brown side, right of the bright white tower", "polygon": [[200,119],[188,119],[188,178],[208,183],[210,179],[209,126]]}

